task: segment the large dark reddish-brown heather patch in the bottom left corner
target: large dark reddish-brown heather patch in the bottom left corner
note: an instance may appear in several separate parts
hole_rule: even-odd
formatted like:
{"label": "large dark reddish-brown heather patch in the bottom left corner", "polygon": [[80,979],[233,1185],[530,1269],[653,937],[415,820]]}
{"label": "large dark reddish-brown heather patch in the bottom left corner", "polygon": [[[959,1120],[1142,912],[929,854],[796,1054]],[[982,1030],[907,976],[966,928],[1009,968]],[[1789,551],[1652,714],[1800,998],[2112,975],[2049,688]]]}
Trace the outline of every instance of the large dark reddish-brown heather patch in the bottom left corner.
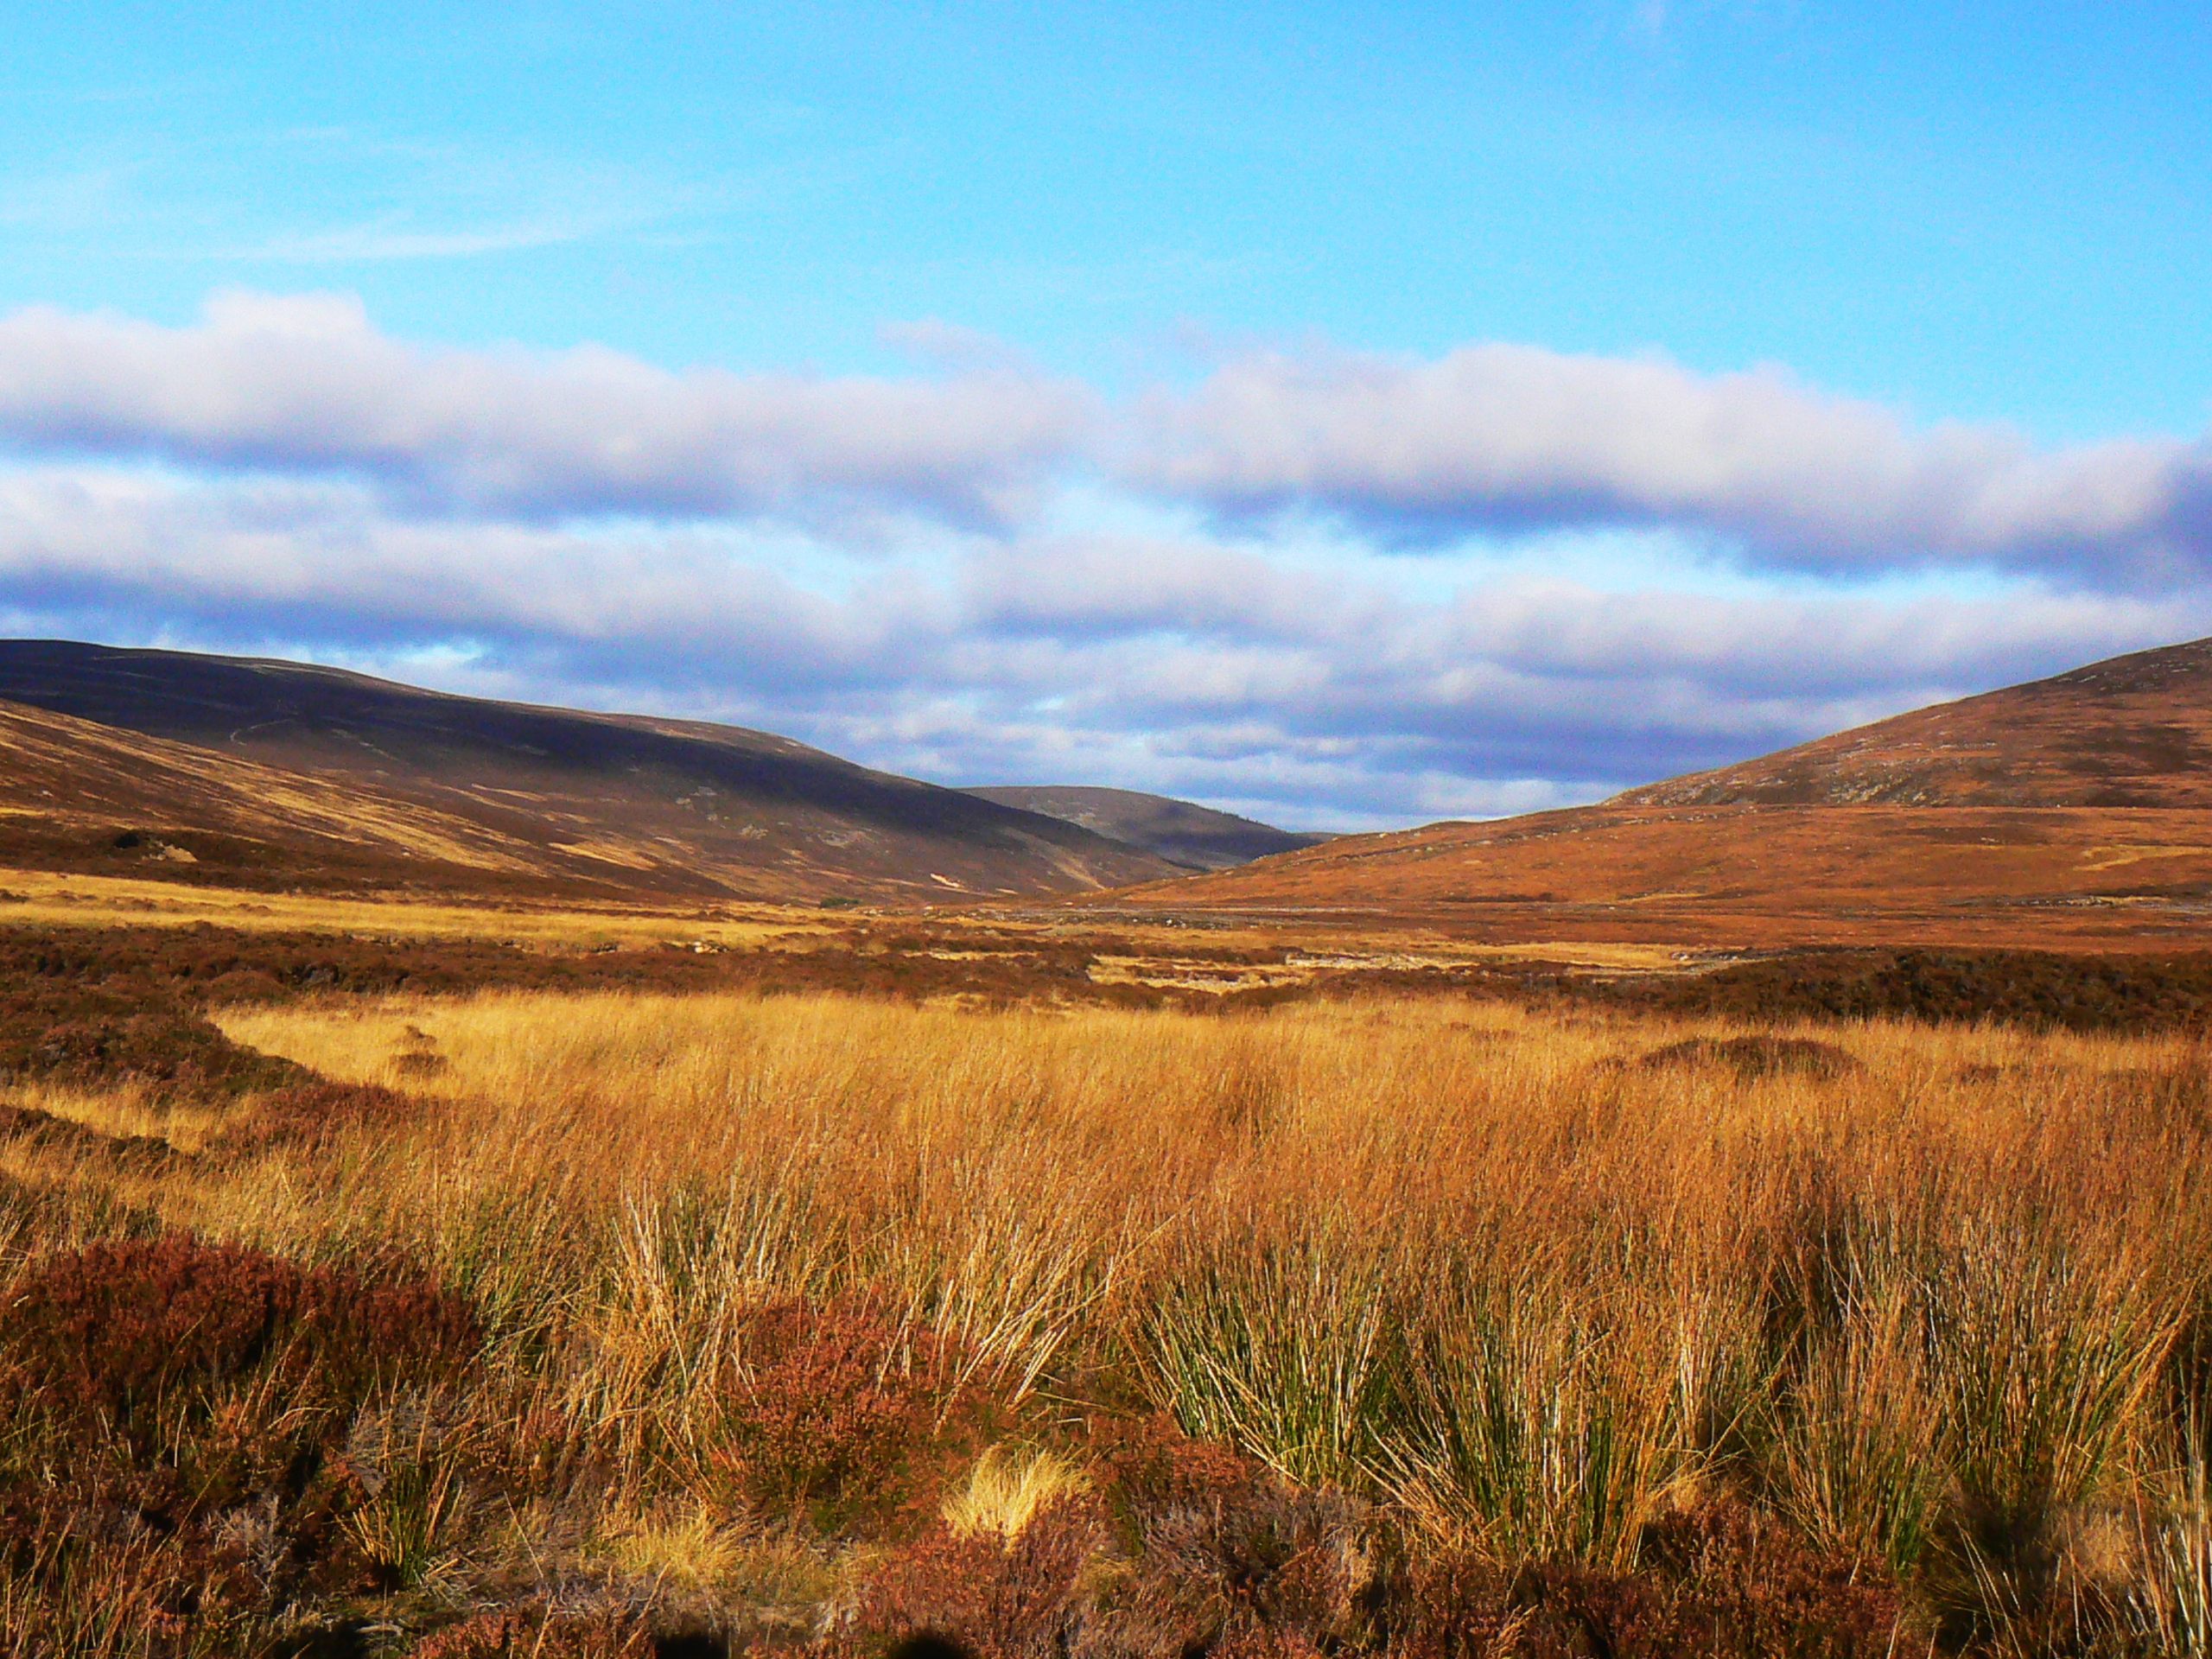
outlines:
{"label": "large dark reddish-brown heather patch in the bottom left corner", "polygon": [[206,1652],[301,1595],[374,1584],[347,1427],[394,1389],[456,1380],[480,1340],[420,1279],[188,1234],[35,1259],[0,1318],[18,1617],[60,1652],[122,1608],[173,1637],[153,1652]]}

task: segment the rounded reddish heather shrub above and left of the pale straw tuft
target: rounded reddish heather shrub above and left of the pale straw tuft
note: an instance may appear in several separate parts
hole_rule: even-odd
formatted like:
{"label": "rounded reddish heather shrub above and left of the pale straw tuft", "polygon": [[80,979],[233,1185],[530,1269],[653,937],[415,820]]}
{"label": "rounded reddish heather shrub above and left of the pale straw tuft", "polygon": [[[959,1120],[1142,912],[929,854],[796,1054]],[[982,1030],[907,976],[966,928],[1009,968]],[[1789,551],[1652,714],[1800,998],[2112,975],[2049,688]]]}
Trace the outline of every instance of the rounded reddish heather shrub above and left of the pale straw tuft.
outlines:
{"label": "rounded reddish heather shrub above and left of the pale straw tuft", "polygon": [[949,1387],[947,1338],[865,1301],[763,1303],[739,1347],[710,1458],[726,1502],[754,1515],[823,1531],[914,1515],[989,1416],[980,1396]]}

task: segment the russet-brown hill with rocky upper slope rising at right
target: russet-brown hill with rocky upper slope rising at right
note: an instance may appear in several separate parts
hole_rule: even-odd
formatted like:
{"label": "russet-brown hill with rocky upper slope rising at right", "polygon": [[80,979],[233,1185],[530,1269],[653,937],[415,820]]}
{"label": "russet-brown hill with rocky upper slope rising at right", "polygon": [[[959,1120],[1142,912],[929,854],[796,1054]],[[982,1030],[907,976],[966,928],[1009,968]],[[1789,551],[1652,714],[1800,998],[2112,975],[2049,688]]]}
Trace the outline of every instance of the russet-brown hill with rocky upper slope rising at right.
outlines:
{"label": "russet-brown hill with rocky upper slope rising at right", "polygon": [[2203,942],[2212,641],[1498,823],[1345,836],[1104,902],[1495,940]]}

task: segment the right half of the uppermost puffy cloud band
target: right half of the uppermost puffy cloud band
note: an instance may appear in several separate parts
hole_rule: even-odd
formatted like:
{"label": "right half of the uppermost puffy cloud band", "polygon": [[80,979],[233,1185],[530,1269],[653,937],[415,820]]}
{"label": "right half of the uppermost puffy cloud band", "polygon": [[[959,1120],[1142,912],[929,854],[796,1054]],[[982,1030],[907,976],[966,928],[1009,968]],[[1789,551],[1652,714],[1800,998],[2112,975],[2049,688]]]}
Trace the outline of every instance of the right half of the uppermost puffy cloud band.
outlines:
{"label": "right half of the uppermost puffy cloud band", "polygon": [[2212,564],[2212,445],[2035,449],[1916,429],[1781,369],[1469,345],[1232,358],[1150,403],[1126,473],[1223,513],[1318,509],[1400,540],[1668,524],[1801,568],[1975,562],[2088,582]]}

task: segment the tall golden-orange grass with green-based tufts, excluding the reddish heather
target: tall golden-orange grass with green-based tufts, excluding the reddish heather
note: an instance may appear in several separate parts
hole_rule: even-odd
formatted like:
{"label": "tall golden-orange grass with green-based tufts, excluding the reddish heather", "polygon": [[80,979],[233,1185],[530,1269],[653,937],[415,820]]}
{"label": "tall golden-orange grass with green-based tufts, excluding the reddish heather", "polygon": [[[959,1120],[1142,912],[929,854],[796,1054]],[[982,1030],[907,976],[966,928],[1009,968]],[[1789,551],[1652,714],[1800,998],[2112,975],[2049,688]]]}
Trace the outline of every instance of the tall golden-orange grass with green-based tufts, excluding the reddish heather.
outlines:
{"label": "tall golden-orange grass with green-based tufts, excluding the reddish heather", "polygon": [[[133,1175],[131,1201],[434,1265],[513,1387],[588,1425],[626,1571],[765,1573],[712,1509],[703,1378],[763,1298],[865,1290],[1002,1398],[1155,1405],[1433,1548],[1628,1566],[1646,1522],[1730,1489],[1984,1635],[2064,1593],[2203,1650],[2188,1037],[635,993],[221,1024],[436,1110],[314,1164]],[[1739,1035],[1843,1053],[1650,1060]],[[1077,1478],[1000,1451],[945,1513],[1013,1535]]]}

